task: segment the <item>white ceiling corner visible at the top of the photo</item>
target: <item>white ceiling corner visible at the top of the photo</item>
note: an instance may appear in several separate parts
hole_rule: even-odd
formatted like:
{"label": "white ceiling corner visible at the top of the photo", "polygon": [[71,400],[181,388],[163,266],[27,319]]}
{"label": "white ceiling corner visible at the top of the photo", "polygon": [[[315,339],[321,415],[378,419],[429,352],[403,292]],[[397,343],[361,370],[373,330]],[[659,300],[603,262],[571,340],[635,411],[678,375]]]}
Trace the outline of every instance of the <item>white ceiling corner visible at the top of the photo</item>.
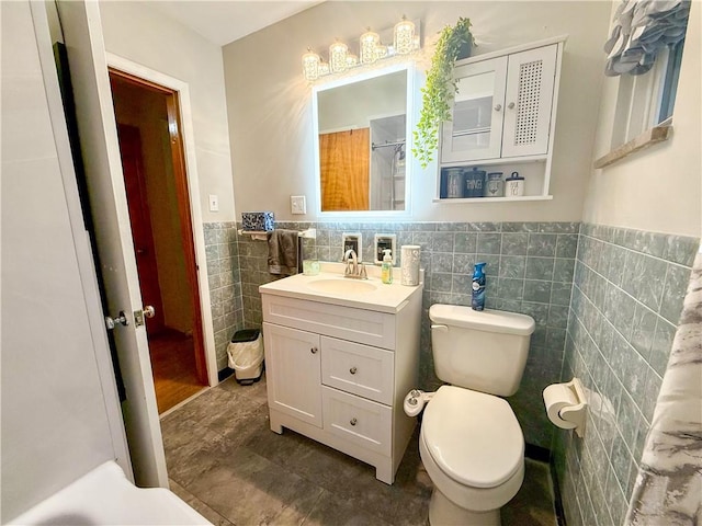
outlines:
{"label": "white ceiling corner visible at the top of the photo", "polygon": [[321,1],[324,0],[165,0],[148,1],[148,4],[210,42],[224,46]]}

